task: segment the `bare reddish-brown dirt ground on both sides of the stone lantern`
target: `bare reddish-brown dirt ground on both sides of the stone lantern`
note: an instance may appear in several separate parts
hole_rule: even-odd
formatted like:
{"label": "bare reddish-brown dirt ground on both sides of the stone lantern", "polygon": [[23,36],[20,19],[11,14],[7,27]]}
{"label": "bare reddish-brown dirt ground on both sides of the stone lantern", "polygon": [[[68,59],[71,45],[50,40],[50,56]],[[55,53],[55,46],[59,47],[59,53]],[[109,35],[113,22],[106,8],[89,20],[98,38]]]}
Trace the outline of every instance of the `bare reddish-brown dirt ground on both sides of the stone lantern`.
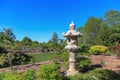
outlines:
{"label": "bare reddish-brown dirt ground on both sides of the stone lantern", "polygon": [[[114,70],[120,73],[120,59],[117,59],[116,56],[92,55],[91,60],[92,60],[92,65],[96,67],[99,67],[100,61],[103,60],[105,63],[105,66],[103,66],[102,68]],[[31,68],[35,70],[39,70],[40,65],[50,64],[50,63],[52,63],[52,61],[42,61],[42,62],[37,62],[34,65],[32,64],[19,65],[19,66],[14,66],[14,68],[17,70],[17,72],[22,73]],[[10,72],[10,68],[9,67],[0,68],[0,72],[2,71]],[[61,71],[64,72],[66,71],[66,69],[64,67],[61,67]]]}

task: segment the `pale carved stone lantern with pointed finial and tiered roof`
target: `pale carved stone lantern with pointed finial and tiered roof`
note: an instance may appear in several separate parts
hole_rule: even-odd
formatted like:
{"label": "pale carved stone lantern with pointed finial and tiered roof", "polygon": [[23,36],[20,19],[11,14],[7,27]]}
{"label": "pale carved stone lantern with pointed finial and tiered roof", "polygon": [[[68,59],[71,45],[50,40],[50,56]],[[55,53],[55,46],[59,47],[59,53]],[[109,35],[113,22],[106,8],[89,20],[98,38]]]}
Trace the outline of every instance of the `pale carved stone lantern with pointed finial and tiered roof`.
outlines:
{"label": "pale carved stone lantern with pointed finial and tiered roof", "polygon": [[69,69],[67,70],[67,76],[78,73],[75,67],[76,52],[79,49],[77,46],[77,39],[78,37],[82,36],[82,33],[75,30],[75,24],[73,21],[69,26],[70,30],[68,30],[66,33],[63,33],[63,36],[67,38],[67,46],[65,46],[65,49],[69,51]]}

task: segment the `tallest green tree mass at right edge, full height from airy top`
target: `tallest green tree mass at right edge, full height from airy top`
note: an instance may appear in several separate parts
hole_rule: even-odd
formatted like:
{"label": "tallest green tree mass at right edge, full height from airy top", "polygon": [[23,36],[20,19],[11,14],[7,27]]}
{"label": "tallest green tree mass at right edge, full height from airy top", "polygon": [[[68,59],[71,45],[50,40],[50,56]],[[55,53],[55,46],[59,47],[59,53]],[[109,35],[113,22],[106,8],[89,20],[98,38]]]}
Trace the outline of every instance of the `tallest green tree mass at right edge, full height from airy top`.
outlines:
{"label": "tallest green tree mass at right edge, full height from airy top", "polygon": [[105,46],[120,44],[120,11],[110,10],[105,14],[99,39]]}

